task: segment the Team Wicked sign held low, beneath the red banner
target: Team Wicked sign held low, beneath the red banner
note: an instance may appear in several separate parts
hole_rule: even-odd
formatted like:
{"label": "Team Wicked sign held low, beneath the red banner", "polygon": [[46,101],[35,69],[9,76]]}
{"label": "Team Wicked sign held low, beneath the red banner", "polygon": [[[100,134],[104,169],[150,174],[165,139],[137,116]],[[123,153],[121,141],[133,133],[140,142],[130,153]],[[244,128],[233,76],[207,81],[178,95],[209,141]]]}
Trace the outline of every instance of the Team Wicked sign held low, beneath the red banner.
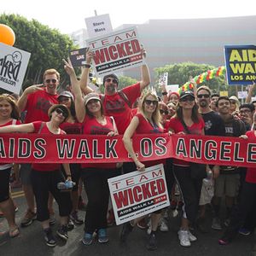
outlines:
{"label": "Team Wicked sign held low, beneath the red banner", "polygon": [[116,224],[170,206],[163,165],[108,179]]}

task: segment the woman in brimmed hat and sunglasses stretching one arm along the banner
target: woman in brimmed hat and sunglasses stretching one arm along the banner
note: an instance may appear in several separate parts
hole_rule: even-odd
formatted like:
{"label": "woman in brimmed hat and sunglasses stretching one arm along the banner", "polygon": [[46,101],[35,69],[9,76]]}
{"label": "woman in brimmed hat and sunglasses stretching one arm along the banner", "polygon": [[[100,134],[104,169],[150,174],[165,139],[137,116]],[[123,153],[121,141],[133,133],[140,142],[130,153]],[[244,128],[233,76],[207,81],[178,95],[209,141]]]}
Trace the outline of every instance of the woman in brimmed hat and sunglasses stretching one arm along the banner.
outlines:
{"label": "woman in brimmed hat and sunglasses stretching one arm along the banner", "polygon": [[[0,133],[7,132],[33,132],[44,134],[66,134],[60,125],[69,116],[69,110],[64,105],[53,105],[49,108],[49,122],[36,121],[25,125],[9,125],[0,127]],[[67,180],[71,181],[68,164],[62,164],[67,174]],[[37,218],[44,229],[44,240],[49,247],[55,247],[55,237],[49,227],[48,198],[49,192],[54,196],[59,205],[61,228],[57,235],[67,241],[67,218],[71,212],[72,203],[69,193],[62,193],[57,189],[57,183],[63,181],[60,163],[33,163],[32,164],[32,188],[37,202]]]}

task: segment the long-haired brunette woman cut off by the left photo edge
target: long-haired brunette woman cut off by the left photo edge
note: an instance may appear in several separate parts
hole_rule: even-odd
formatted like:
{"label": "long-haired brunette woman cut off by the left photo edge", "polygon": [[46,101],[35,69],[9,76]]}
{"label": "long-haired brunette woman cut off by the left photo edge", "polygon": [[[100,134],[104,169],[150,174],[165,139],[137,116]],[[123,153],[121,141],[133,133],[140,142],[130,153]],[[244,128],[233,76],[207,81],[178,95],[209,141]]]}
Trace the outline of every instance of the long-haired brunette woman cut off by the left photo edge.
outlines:
{"label": "long-haired brunette woman cut off by the left photo edge", "polygon": [[[20,125],[20,113],[15,100],[8,94],[0,96],[0,127]],[[15,237],[20,234],[15,223],[15,205],[9,196],[9,177],[12,164],[0,163],[0,209],[9,224],[9,236]]]}

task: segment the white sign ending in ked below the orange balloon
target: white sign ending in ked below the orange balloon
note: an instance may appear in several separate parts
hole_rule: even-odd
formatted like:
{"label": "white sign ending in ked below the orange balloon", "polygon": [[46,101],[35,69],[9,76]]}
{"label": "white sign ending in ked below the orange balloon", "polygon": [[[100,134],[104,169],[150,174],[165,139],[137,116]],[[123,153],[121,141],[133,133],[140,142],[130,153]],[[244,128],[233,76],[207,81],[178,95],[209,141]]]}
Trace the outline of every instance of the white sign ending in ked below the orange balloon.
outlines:
{"label": "white sign ending in ked below the orange balloon", "polygon": [[30,53],[0,43],[0,88],[20,94]]}

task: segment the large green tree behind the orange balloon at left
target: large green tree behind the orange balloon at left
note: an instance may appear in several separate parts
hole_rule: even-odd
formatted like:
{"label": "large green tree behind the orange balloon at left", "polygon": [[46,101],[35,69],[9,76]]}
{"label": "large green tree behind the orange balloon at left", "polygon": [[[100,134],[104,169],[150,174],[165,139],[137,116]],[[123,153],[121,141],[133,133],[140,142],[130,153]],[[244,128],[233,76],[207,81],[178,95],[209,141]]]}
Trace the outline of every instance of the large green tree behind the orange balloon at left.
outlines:
{"label": "large green tree behind the orange balloon at left", "polygon": [[42,83],[44,70],[48,68],[55,68],[61,73],[62,86],[69,82],[62,59],[67,59],[75,45],[68,35],[42,25],[38,20],[29,21],[20,15],[0,15],[0,23],[14,30],[14,47],[31,53],[23,89],[31,84]]}

